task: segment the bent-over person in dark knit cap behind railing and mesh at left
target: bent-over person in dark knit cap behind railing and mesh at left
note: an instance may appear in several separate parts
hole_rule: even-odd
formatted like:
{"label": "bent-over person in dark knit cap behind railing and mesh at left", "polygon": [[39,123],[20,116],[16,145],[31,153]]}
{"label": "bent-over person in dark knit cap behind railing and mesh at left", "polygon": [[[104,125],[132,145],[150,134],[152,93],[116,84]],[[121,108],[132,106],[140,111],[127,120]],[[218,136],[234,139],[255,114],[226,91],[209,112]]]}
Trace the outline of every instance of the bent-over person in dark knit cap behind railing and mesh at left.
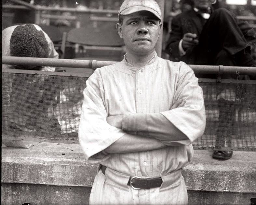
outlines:
{"label": "bent-over person in dark knit cap behind railing and mesh at left", "polygon": [[[35,24],[11,26],[2,32],[2,55],[34,58],[58,58],[59,55],[48,35]],[[3,69],[54,71],[54,67],[2,65]],[[3,79],[5,80],[5,79]],[[43,95],[39,89],[44,90]],[[44,116],[58,92],[51,76],[14,74],[3,87],[11,90],[8,114],[11,128],[27,132],[46,131]],[[8,93],[8,92],[7,92]],[[8,120],[5,122],[7,123]],[[8,123],[7,123],[8,124]],[[6,129],[9,125],[6,125]]]}

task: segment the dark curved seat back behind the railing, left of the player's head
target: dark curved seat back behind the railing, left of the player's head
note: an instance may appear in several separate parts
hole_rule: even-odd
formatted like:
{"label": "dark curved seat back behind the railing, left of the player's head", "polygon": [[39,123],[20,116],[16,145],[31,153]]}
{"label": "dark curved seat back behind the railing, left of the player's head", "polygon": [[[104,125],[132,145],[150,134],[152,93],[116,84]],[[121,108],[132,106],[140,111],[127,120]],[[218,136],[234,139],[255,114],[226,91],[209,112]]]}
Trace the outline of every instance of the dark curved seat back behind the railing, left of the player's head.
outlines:
{"label": "dark curved seat back behind the railing, left of the player's head", "polygon": [[124,42],[113,22],[106,22],[97,28],[93,24],[88,24],[86,27],[74,28],[63,36],[62,58],[65,55],[65,48],[74,45],[76,59],[121,61],[125,53]]}

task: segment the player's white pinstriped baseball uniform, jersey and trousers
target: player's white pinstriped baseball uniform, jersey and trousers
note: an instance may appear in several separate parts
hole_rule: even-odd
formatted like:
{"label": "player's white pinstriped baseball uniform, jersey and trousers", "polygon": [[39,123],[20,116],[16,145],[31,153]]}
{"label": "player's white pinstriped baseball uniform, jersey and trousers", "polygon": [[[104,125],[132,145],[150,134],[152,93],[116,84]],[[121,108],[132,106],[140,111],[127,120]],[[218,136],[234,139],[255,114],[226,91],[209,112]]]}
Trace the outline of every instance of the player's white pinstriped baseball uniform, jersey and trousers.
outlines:
{"label": "player's white pinstriped baseball uniform, jersey and trousers", "polygon": [[[187,203],[181,168],[192,159],[191,142],[205,129],[203,93],[197,81],[185,63],[159,58],[156,53],[141,68],[124,58],[95,70],[84,90],[79,140],[88,162],[100,162],[107,169],[95,178],[91,204]],[[123,129],[106,122],[106,117],[120,114],[124,114]],[[169,141],[170,123],[188,140]],[[154,137],[168,147],[126,154],[101,152],[127,132]],[[161,176],[163,184],[134,190],[127,186],[129,176]]]}

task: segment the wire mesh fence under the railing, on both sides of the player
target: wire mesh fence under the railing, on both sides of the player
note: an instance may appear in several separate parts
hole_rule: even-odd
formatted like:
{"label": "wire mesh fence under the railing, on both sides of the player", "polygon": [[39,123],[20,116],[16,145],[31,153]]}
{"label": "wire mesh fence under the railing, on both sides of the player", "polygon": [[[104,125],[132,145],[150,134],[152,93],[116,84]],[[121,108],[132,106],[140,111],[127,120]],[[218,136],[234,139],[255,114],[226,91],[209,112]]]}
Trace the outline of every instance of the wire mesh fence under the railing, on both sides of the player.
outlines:
{"label": "wire mesh fence under the railing, on both sides of the player", "polygon": [[[5,138],[77,143],[88,77],[66,75],[3,72]],[[193,143],[195,149],[256,150],[256,84],[239,81],[199,85],[203,89],[207,123],[204,135]]]}

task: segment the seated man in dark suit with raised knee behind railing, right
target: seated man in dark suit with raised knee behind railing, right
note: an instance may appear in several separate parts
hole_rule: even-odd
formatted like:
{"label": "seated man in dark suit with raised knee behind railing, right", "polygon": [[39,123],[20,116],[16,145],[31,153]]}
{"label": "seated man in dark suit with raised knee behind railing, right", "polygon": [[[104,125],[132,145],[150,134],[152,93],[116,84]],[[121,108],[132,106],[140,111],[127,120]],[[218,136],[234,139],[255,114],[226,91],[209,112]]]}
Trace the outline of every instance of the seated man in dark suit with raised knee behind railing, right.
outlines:
{"label": "seated man in dark suit with raised knee behind railing, right", "polygon": [[[240,27],[233,14],[224,8],[211,7],[214,0],[193,0],[194,8],[179,14],[172,19],[172,31],[165,51],[175,61],[188,64],[224,65],[224,66],[255,66],[250,56],[250,41],[254,39],[253,30]],[[240,27],[239,27],[239,26]],[[247,29],[246,29],[247,28]],[[197,77],[215,78],[212,75],[197,75]],[[244,76],[223,75],[227,79],[243,79]],[[217,100],[220,112],[219,128],[217,130],[216,147],[223,146],[224,138],[228,138],[231,146],[231,135],[234,132],[235,101],[240,96],[227,96],[225,92],[233,92],[234,87],[217,87]],[[227,116],[228,115],[228,116]],[[229,159],[233,151],[214,151],[214,158]]]}

